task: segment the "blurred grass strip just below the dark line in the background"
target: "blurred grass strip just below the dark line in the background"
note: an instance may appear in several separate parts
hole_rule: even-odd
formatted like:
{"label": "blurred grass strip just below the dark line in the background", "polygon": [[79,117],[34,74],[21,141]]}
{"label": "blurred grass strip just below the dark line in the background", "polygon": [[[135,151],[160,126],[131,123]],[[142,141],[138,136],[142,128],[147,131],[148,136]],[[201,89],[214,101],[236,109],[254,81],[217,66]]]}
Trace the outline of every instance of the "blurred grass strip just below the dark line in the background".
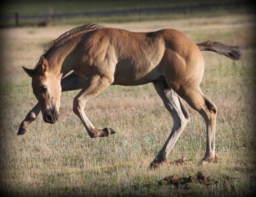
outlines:
{"label": "blurred grass strip just below the dark line in the background", "polygon": [[[62,19],[49,19],[49,20],[20,20],[19,26],[40,26],[41,22],[46,22],[46,26],[59,26],[59,25],[81,25],[89,23],[129,23],[140,21],[152,21],[152,20],[175,20],[175,19],[190,19],[201,17],[217,17],[227,16],[233,14],[245,14],[251,13],[249,8],[240,9],[217,9],[187,13],[167,13],[167,14],[132,14],[126,16],[108,16],[108,17],[74,17],[74,18],[62,18]],[[15,26],[14,20],[4,21],[0,23],[2,27]]]}

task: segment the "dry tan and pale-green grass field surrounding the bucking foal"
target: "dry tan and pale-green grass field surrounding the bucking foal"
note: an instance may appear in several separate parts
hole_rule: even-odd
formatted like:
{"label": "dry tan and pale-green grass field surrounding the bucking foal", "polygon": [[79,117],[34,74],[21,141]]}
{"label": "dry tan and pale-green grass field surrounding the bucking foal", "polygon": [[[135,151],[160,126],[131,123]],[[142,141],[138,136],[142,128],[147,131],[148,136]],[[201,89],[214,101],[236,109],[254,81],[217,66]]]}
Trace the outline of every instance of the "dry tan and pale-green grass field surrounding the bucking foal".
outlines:
{"label": "dry tan and pale-green grass field surrounding the bucking foal", "polygon": [[[36,103],[31,79],[21,66],[32,68],[47,44],[73,26],[1,29],[0,191],[17,196],[250,196],[256,187],[255,46],[253,16],[227,15],[180,20],[108,23],[131,31],[174,28],[192,41],[207,39],[241,46],[243,57],[232,61],[203,52],[202,91],[218,107],[218,162],[199,166],[206,144],[205,124],[187,104],[191,121],[166,163],[147,171],[172,128],[172,118],[152,84],[111,86],[88,102],[86,113],[99,128],[116,134],[91,139],[72,112],[78,91],[62,93],[60,120],[44,123],[39,115],[23,136],[17,127]],[[104,98],[104,100],[102,100]],[[106,113],[108,111],[108,113]],[[189,165],[170,165],[185,156]],[[207,187],[159,185],[166,176],[204,171],[219,184]]]}

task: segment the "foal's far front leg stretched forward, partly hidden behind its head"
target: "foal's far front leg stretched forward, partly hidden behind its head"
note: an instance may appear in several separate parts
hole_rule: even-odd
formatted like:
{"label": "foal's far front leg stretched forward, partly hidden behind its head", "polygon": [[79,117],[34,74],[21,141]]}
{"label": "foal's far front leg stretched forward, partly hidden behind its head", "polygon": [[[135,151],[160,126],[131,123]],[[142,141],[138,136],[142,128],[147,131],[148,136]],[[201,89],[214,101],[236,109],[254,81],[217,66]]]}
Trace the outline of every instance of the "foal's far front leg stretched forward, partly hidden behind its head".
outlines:
{"label": "foal's far front leg stretched forward, partly hidden behind its head", "polygon": [[[78,75],[72,72],[70,75],[67,75],[67,77],[61,80],[61,91],[65,92],[70,90],[79,90],[84,87],[84,84],[86,84],[86,80],[80,78]],[[23,135],[28,131],[29,124],[36,119],[40,111],[41,107],[39,103],[37,103],[35,107],[29,111],[25,119],[20,123],[17,135]]]}

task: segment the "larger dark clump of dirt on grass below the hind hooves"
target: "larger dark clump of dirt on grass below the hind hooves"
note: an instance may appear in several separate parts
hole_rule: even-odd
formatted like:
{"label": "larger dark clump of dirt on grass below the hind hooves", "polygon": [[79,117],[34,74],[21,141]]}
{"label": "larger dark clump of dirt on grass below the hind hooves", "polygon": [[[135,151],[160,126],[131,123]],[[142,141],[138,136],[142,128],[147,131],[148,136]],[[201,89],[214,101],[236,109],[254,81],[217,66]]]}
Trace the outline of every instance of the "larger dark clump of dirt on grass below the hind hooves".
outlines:
{"label": "larger dark clump of dirt on grass below the hind hooves", "polygon": [[177,177],[175,175],[172,175],[170,177],[165,177],[159,182],[160,185],[175,185],[176,187],[185,183],[199,183],[211,186],[217,185],[218,181],[213,180],[210,177],[206,177],[202,171],[199,171],[196,175],[192,175],[189,177]]}

